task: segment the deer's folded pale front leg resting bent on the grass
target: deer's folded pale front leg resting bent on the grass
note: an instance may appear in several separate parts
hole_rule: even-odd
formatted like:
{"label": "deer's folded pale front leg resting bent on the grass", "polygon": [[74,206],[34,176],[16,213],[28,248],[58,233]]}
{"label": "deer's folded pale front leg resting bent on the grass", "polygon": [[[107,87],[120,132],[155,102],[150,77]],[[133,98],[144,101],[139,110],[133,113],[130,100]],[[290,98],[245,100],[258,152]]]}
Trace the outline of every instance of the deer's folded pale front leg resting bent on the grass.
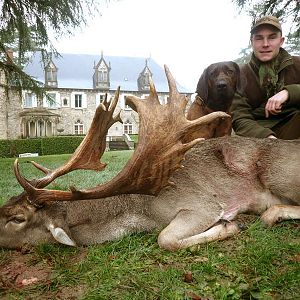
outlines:
{"label": "deer's folded pale front leg resting bent on the grass", "polygon": [[[201,221],[201,220],[200,220]],[[199,214],[181,211],[159,234],[158,244],[171,251],[193,245],[223,240],[240,231],[236,222],[218,223],[209,229],[199,222]]]}

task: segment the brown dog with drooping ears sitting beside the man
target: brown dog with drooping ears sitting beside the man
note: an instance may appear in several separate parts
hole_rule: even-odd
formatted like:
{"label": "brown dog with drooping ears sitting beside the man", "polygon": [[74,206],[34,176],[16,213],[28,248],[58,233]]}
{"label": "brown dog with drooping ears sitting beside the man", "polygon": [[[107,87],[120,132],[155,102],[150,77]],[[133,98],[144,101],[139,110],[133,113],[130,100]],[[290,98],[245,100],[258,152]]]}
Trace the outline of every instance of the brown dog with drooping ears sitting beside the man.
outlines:
{"label": "brown dog with drooping ears sitting beside the man", "polygon": [[[232,61],[209,65],[197,84],[197,96],[187,112],[187,119],[194,120],[214,111],[230,114],[233,96],[240,89],[240,69]],[[195,136],[204,138],[231,134],[231,119],[220,121],[218,126],[207,126],[207,130],[196,132]]]}

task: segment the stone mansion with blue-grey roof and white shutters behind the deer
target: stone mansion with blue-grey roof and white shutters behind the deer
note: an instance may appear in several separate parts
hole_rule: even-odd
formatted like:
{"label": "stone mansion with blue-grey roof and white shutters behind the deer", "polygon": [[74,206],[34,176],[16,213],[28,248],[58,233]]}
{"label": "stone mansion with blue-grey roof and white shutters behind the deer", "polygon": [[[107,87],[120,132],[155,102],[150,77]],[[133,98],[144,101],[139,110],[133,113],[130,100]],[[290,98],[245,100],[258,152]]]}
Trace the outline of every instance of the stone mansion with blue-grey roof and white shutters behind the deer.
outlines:
{"label": "stone mansion with blue-grey roof and white shutters behind the deer", "polygon": [[[122,123],[115,123],[108,140],[138,133],[137,114],[125,104],[125,96],[145,98],[152,77],[162,104],[168,98],[165,73],[153,59],[140,57],[62,54],[43,65],[35,53],[25,68],[27,74],[41,81],[48,98],[38,99],[31,91],[22,96],[5,92],[5,78],[0,78],[0,139],[34,138],[55,135],[85,134],[96,107],[114,96],[121,87],[116,111],[122,110]],[[191,93],[178,85],[189,98]],[[51,100],[49,100],[51,99]]]}

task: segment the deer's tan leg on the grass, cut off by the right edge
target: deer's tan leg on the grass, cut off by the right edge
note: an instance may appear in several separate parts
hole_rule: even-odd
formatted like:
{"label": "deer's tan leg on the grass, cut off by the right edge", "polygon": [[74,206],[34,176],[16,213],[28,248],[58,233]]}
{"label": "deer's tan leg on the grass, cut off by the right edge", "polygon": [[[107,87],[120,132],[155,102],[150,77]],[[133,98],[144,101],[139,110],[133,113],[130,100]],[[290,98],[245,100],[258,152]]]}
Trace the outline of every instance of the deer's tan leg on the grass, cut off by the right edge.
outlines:
{"label": "deer's tan leg on the grass, cut off by the right edge", "polygon": [[269,207],[261,216],[268,226],[282,220],[300,219],[300,206],[277,204]]}

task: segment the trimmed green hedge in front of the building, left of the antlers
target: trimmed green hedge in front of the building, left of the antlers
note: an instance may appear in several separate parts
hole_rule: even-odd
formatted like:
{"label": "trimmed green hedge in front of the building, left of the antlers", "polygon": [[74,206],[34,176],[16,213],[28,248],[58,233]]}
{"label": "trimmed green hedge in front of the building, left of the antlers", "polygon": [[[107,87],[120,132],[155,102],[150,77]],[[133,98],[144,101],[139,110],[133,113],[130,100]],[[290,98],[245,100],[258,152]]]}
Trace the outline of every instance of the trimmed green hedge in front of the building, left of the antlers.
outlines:
{"label": "trimmed green hedge in front of the building, left of the antlers", "polygon": [[36,139],[0,140],[0,157],[17,157],[21,153],[53,155],[73,153],[84,136],[56,136]]}

